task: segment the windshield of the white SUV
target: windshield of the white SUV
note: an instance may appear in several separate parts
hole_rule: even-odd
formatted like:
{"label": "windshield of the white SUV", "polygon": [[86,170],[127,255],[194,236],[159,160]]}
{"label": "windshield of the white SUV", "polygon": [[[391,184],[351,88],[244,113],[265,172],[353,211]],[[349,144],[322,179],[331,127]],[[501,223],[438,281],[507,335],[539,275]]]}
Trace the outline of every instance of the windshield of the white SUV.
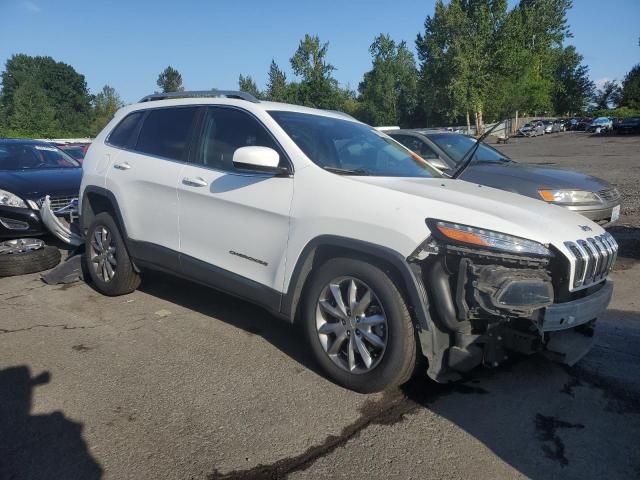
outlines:
{"label": "windshield of the white SUV", "polygon": [[421,157],[368,125],[308,113],[269,114],[313,163],[334,173],[442,176]]}

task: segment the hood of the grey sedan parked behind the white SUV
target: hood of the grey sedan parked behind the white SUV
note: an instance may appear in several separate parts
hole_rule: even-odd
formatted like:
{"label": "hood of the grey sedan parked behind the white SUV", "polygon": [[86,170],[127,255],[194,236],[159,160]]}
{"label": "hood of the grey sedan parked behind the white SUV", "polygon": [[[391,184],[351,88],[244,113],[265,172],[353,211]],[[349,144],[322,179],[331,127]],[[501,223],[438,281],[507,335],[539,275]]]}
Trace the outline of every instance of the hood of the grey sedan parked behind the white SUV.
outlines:
{"label": "hood of the grey sedan parked behind the white SUV", "polygon": [[460,179],[539,199],[540,189],[569,188],[599,192],[611,188],[606,181],[584,173],[516,162],[472,163]]}

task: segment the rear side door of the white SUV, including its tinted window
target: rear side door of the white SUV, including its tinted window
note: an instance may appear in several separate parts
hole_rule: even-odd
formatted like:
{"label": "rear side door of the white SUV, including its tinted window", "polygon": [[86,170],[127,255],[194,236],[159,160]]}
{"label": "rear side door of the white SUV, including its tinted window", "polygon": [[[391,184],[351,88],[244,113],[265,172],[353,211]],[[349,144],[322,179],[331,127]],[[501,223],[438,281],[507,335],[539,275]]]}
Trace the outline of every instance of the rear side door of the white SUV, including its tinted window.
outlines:
{"label": "rear side door of the white SUV, including its tinted window", "polygon": [[167,254],[173,264],[163,266],[172,269],[178,268],[180,249],[177,185],[197,112],[193,106],[145,111],[133,138],[114,153],[107,175],[127,235],[137,241],[134,256],[157,263],[158,253]]}

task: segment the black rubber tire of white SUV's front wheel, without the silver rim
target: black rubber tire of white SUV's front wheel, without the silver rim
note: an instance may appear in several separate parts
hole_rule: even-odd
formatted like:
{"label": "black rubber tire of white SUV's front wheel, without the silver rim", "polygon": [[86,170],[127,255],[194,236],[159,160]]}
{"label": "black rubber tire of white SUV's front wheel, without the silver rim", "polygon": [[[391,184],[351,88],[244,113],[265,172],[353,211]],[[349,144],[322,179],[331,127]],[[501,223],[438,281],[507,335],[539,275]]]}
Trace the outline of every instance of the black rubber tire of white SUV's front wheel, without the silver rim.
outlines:
{"label": "black rubber tire of white SUV's front wheel, without the silver rim", "polygon": [[[351,373],[337,365],[318,335],[321,295],[334,279],[344,277],[357,279],[370,287],[386,316],[384,353],[378,363],[364,373]],[[402,294],[383,270],[365,261],[335,258],[323,264],[310,282],[303,299],[302,327],[320,367],[333,381],[357,392],[372,393],[397,387],[411,378],[417,357],[415,329]]]}

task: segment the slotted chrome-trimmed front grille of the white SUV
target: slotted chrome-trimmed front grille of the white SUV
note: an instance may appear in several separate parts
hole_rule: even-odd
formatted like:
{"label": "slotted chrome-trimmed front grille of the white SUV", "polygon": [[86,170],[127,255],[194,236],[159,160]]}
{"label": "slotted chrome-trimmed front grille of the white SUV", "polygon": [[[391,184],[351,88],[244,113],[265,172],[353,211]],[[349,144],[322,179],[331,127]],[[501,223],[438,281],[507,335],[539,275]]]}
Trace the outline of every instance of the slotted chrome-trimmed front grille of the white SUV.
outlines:
{"label": "slotted chrome-trimmed front grille of the white SUV", "polygon": [[571,252],[571,263],[575,266],[573,288],[588,287],[606,278],[618,256],[618,244],[609,233],[564,242],[564,245]]}

